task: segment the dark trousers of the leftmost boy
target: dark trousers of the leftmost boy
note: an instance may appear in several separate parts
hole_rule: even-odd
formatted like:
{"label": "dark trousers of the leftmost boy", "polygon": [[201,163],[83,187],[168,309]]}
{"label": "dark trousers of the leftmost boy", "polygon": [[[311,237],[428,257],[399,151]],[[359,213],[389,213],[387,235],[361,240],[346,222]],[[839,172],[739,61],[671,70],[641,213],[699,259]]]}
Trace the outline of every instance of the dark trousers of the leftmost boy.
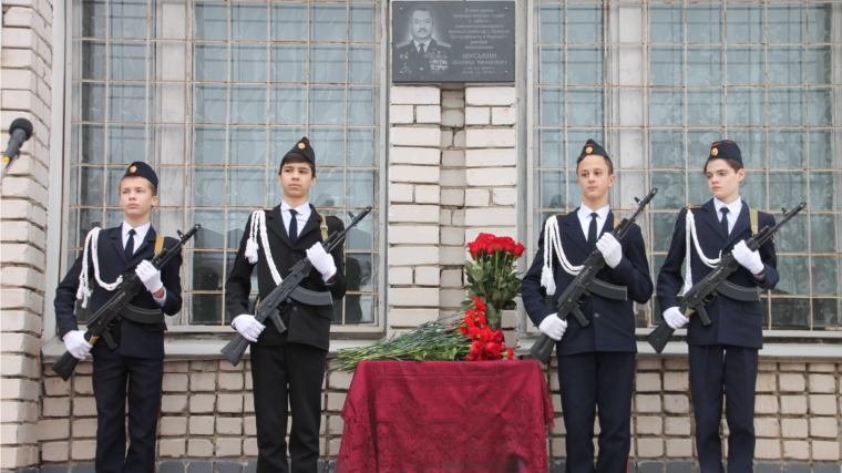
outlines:
{"label": "dark trousers of the leftmost boy", "polygon": [[92,377],[96,400],[96,473],[154,473],[164,360],[124,357],[101,343],[102,349],[93,358]]}

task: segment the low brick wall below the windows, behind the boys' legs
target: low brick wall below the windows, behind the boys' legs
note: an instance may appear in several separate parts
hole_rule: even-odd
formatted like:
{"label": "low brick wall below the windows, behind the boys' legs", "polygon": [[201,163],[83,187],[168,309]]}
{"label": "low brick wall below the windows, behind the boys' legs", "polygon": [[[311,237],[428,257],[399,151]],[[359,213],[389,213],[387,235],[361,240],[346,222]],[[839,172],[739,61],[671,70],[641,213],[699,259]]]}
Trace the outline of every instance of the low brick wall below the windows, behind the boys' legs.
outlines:
{"label": "low brick wall below the windows, behind the boys' legs", "polygon": [[[93,461],[96,432],[91,363],[64,382],[47,372],[38,440],[43,466]],[[247,466],[257,454],[249,363],[167,361],[158,423],[158,461]],[[566,455],[555,359],[546,370],[556,411],[548,433],[551,461]],[[767,469],[840,460],[842,363],[762,361],[758,376],[756,462]],[[330,465],[341,442],[340,417],[351,374],[329,372],[322,393],[320,451]],[[638,357],[632,422],[632,460],[641,473],[695,462],[694,419],[686,358]],[[727,426],[722,422],[727,435]],[[595,432],[599,432],[598,420]],[[598,453],[598,450],[597,450]],[[204,464],[204,463],[203,463]],[[651,470],[653,467],[656,470]],[[670,467],[671,470],[671,467]],[[64,471],[64,470],[62,470]],[[818,470],[817,470],[818,471]],[[226,472],[220,472],[226,473]]]}

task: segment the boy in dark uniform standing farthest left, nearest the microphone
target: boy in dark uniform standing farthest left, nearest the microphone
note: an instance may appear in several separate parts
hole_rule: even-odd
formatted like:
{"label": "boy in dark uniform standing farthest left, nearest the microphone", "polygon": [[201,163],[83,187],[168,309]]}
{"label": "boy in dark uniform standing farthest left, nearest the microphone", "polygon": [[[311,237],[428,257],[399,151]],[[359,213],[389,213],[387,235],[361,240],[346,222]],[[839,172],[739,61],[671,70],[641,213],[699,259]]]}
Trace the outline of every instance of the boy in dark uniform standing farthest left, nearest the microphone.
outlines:
{"label": "boy in dark uniform standing farthest left, nearest the microphone", "polygon": [[[164,378],[164,313],[182,309],[181,254],[161,271],[148,261],[156,246],[172,248],[175,238],[162,238],[150,224],[157,205],[157,176],[146,163],[132,163],[120,182],[123,224],[92,229],[85,249],[55,290],[55,319],[68,351],[82,360],[93,354],[93,391],[96,400],[96,473],[153,473],[155,428],[161,410]],[[75,299],[96,312],[122,281],[135,271],[147,290],[141,291],[122,312],[111,336],[112,351],[104,341],[93,348],[79,330],[73,313]],[[89,280],[95,280],[93,294]],[[90,300],[89,300],[90,296]],[[129,453],[125,407],[129,395]]]}

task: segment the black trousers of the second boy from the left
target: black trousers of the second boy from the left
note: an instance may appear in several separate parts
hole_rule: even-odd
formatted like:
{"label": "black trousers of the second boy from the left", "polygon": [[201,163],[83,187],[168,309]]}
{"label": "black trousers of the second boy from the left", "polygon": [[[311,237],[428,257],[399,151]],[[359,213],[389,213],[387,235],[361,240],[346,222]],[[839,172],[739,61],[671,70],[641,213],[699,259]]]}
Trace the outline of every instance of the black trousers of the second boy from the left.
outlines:
{"label": "black trousers of the second boy from the left", "polygon": [[[321,384],[327,351],[308,345],[251,343],[257,419],[257,473],[287,473],[287,415],[292,412],[292,473],[316,473],[319,461]],[[289,404],[289,409],[287,408]]]}

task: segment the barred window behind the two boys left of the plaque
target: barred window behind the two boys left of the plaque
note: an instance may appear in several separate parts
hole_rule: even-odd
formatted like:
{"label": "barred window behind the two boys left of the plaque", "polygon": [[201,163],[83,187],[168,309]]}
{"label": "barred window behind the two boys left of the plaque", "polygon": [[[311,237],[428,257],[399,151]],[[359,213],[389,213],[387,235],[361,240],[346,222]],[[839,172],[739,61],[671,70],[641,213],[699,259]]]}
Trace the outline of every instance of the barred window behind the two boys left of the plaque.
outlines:
{"label": "barred window behind the two boys left of the plaque", "polygon": [[280,160],[308,136],[310,203],[346,225],[374,207],[347,239],[335,323],[376,327],[380,18],[377,1],[74,0],[69,261],[90,228],[120,224],[117,183],[146,161],[161,181],[155,228],[203,226],[170,322],[227,323],[223,286],[246,220],[280,202]]}

